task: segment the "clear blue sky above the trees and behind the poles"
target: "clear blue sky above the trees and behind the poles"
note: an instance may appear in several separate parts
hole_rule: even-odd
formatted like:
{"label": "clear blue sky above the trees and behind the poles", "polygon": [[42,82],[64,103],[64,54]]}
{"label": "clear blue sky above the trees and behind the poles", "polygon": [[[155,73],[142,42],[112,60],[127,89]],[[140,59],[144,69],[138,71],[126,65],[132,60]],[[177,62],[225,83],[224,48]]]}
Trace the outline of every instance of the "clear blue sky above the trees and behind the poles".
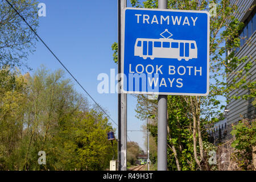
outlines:
{"label": "clear blue sky above the trees and behind the poles", "polygon": [[[115,69],[117,73],[111,49],[112,44],[117,42],[117,0],[38,2],[46,4],[46,17],[39,17],[39,36],[94,100],[118,123],[117,94],[97,92],[100,83],[97,76],[100,73],[110,75],[110,69]],[[129,1],[127,6],[131,7]],[[28,57],[27,64],[33,71],[42,64],[51,71],[63,69],[41,42],[36,43],[36,51]],[[68,73],[66,76],[70,77]],[[75,81],[74,84],[77,91],[86,96]],[[90,98],[88,100],[93,104]],[[135,117],[136,104],[136,98],[128,95],[127,130],[141,130],[141,125],[145,123]],[[113,126],[117,128],[114,123]],[[142,132],[130,132],[128,135],[130,140],[145,148]]]}

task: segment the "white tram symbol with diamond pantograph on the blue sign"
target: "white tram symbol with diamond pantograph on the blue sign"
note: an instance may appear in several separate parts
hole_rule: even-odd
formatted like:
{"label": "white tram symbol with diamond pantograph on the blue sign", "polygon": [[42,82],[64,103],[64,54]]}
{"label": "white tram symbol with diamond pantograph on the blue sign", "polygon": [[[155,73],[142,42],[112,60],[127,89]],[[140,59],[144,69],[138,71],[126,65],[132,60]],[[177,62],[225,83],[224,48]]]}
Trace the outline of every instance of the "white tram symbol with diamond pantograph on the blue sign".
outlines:
{"label": "white tram symbol with diamond pantograph on the blue sign", "polygon": [[[160,39],[137,38],[134,45],[134,56],[143,59],[171,58],[171,59],[197,59],[197,45],[195,40],[170,39],[172,34],[166,29]],[[166,37],[167,36],[167,37]]]}

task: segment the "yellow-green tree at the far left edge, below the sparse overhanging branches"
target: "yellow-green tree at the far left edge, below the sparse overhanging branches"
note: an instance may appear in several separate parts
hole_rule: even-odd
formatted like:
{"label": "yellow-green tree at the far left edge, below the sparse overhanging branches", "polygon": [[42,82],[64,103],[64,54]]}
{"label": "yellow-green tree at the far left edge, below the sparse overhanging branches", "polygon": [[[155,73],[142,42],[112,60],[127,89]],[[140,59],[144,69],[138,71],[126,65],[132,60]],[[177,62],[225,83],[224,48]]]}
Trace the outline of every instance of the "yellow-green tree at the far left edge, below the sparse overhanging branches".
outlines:
{"label": "yellow-green tree at the far left edge, below the sparse overhanging branches", "polygon": [[27,98],[26,83],[18,71],[0,70],[0,169],[17,169],[23,113]]}

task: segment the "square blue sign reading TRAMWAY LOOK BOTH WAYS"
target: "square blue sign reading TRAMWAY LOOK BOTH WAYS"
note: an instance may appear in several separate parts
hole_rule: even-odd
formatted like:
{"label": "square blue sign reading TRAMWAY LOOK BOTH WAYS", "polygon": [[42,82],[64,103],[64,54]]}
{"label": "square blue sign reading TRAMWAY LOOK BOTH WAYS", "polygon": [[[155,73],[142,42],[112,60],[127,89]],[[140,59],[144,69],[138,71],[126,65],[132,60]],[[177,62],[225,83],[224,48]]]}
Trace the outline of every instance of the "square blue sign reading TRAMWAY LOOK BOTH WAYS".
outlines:
{"label": "square blue sign reading TRAMWAY LOOK BOTH WAYS", "polygon": [[124,93],[206,96],[209,92],[209,13],[123,11]]}

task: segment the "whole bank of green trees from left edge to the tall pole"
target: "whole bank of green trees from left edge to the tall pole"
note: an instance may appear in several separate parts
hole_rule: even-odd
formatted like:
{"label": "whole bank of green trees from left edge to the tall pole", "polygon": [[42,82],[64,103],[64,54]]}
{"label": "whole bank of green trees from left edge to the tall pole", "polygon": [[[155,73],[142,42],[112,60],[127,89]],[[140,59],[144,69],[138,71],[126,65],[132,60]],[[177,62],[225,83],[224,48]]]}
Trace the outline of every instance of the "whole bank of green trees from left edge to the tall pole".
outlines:
{"label": "whole bank of green trees from left edge to the tall pole", "polygon": [[[0,71],[0,169],[103,170],[113,157],[108,119],[90,107],[63,71]],[[113,142],[117,156],[117,142]],[[46,164],[38,164],[38,152]]]}

